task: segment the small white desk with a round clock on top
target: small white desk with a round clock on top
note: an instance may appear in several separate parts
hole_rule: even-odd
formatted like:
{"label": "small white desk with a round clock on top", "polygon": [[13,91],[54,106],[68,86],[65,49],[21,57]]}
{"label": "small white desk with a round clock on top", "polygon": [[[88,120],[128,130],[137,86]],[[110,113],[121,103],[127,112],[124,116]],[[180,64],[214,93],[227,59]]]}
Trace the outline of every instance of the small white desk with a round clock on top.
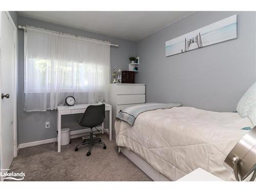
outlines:
{"label": "small white desk with a round clock on top", "polygon": [[[96,105],[97,103],[93,103]],[[92,104],[75,104],[73,106],[68,105],[59,105],[57,106],[57,130],[58,130],[58,152],[60,152],[60,138],[61,138],[61,115],[68,115],[68,114],[77,114],[77,113],[84,113],[86,108]],[[109,133],[110,140],[112,139],[112,106],[110,104],[105,104],[105,111],[109,111],[109,130],[104,129],[104,123],[102,123],[101,133],[103,134],[104,131]]]}

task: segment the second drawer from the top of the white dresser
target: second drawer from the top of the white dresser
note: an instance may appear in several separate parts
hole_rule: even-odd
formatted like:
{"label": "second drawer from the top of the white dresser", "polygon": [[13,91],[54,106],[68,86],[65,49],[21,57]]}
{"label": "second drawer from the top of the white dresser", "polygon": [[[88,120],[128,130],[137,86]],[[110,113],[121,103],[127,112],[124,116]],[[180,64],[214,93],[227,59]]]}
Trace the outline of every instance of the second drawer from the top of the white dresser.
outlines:
{"label": "second drawer from the top of the white dresser", "polygon": [[116,98],[116,104],[133,104],[145,102],[145,94],[117,95]]}

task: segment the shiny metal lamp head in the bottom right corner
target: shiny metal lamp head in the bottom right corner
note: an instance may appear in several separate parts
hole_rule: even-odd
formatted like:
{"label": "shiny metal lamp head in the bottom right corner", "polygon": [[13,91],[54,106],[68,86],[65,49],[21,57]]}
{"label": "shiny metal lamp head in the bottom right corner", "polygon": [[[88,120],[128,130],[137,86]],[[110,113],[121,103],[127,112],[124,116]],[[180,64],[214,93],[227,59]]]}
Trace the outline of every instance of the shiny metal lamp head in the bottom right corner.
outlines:
{"label": "shiny metal lamp head in the bottom right corner", "polygon": [[223,164],[234,174],[237,181],[243,181],[250,175],[250,181],[255,180],[256,126],[234,146]]}

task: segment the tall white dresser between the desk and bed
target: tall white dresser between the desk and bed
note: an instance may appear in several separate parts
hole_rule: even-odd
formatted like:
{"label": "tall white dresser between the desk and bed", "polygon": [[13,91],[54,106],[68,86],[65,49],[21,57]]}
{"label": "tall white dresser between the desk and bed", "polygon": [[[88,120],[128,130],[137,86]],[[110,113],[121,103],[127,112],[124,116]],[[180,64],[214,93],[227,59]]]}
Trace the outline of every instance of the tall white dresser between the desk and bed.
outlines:
{"label": "tall white dresser between the desk and bed", "polygon": [[110,104],[112,105],[112,127],[120,110],[145,103],[145,84],[110,84]]}

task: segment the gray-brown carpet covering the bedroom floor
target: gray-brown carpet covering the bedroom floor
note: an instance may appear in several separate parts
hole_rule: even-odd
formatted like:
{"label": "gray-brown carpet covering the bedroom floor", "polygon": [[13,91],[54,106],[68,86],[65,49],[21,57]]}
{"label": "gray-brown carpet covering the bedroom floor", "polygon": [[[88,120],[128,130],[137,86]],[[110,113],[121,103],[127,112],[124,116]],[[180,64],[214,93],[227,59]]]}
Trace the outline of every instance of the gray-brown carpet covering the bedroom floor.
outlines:
{"label": "gray-brown carpet covering the bedroom floor", "polygon": [[24,181],[152,181],[123,154],[117,153],[115,140],[99,135],[106,144],[93,145],[91,156],[83,145],[74,151],[81,138],[72,139],[57,153],[57,143],[22,148],[14,158],[10,172],[24,172]]}

